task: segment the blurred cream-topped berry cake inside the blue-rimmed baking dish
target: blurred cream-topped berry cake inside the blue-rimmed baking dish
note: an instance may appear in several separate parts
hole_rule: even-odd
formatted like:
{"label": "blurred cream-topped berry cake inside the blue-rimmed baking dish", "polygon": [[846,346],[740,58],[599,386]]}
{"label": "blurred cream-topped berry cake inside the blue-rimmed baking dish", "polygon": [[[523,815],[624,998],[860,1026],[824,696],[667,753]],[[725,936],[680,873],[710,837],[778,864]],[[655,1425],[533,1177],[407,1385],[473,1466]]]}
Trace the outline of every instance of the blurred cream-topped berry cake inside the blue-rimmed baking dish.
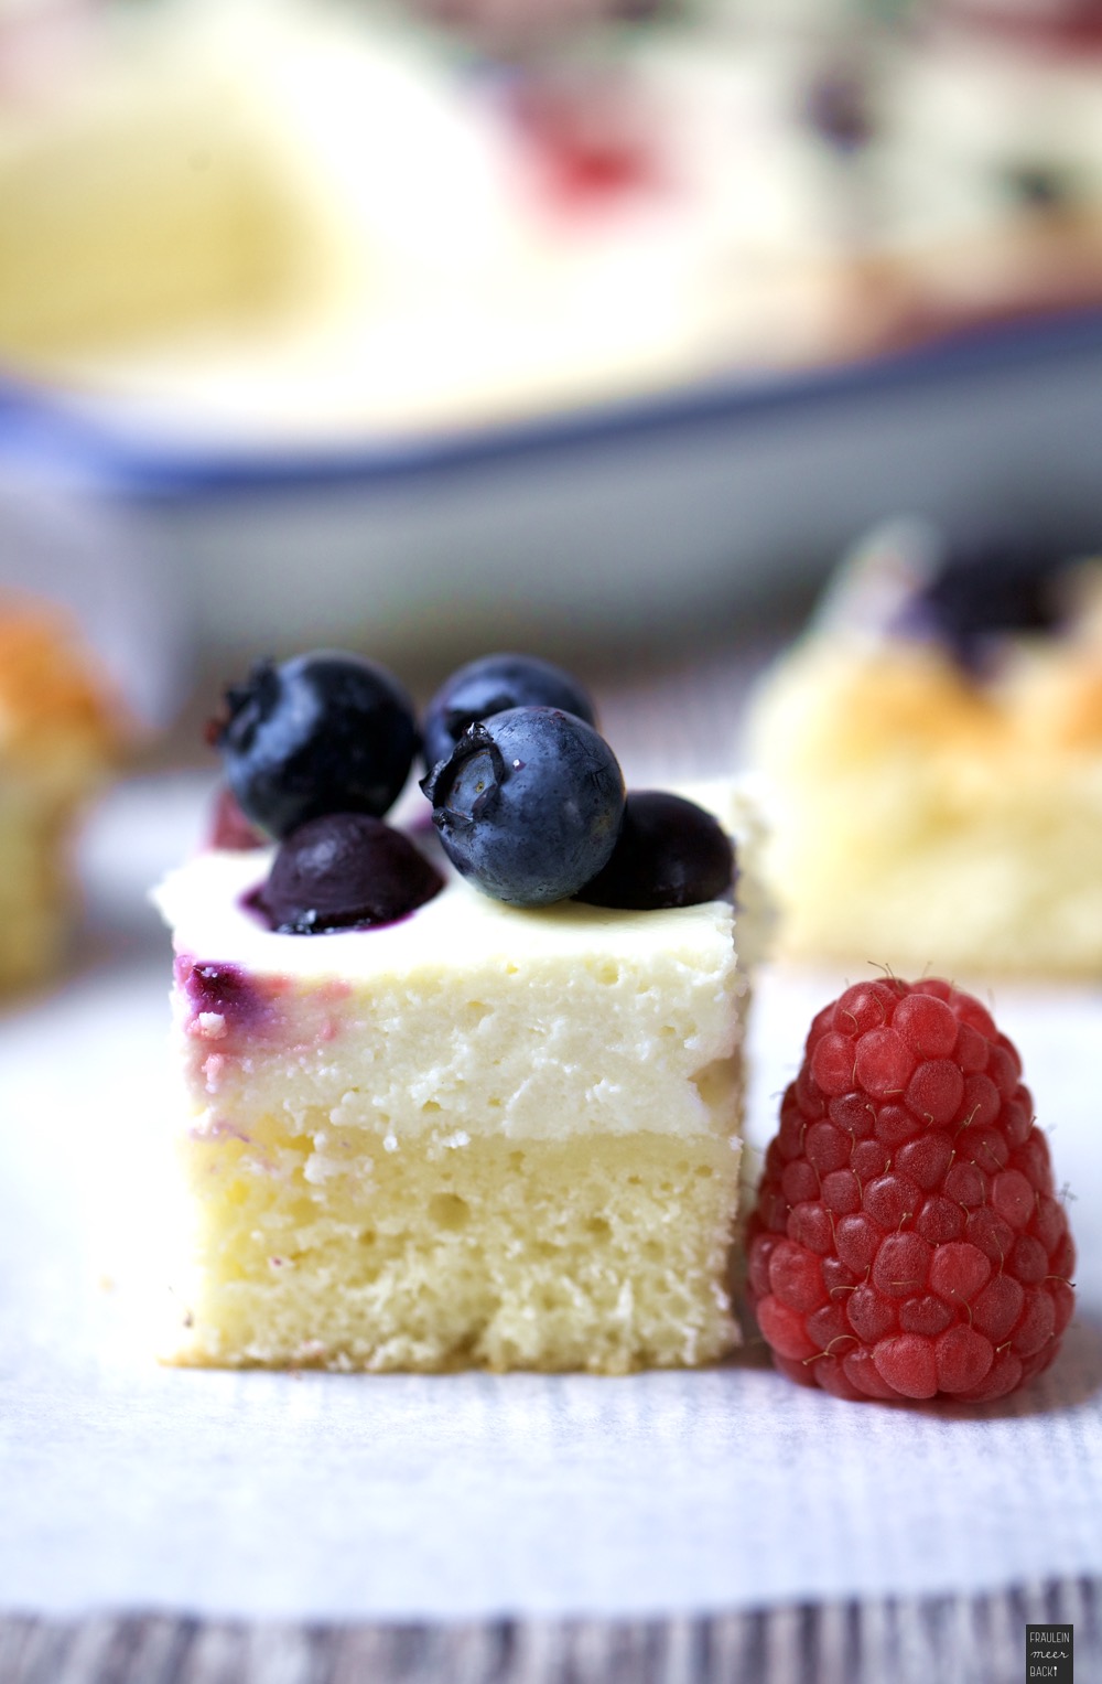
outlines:
{"label": "blurred cream-topped berry cake inside the blue-rimmed baking dish", "polygon": [[0,109],[0,364],[301,440],[1100,301],[1102,57],[981,10],[103,0]]}

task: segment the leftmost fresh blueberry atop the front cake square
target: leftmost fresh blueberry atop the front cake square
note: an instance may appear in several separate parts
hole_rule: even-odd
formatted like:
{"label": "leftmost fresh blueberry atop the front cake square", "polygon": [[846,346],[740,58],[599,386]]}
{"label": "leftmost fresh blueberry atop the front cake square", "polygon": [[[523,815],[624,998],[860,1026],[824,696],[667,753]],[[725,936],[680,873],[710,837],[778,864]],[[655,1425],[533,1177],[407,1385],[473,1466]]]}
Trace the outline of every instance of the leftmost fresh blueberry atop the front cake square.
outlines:
{"label": "leftmost fresh blueberry atop the front cake square", "polygon": [[227,781],[252,823],[274,837],[321,813],[372,813],[397,800],[417,753],[414,709],[370,660],[321,650],[262,662],[225,692],[212,726]]}

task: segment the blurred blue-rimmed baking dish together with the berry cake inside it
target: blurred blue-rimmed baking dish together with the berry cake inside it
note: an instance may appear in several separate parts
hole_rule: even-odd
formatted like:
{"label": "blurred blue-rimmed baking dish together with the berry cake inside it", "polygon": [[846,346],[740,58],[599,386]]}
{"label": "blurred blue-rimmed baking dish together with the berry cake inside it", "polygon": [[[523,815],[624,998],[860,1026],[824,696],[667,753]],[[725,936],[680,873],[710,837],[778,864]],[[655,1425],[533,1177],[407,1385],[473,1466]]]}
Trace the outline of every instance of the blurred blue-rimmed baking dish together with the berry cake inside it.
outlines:
{"label": "blurred blue-rimmed baking dish together with the berry cake inside it", "polygon": [[885,515],[1097,544],[1100,392],[1095,0],[0,0],[0,584],[170,753],[311,643],[734,714]]}

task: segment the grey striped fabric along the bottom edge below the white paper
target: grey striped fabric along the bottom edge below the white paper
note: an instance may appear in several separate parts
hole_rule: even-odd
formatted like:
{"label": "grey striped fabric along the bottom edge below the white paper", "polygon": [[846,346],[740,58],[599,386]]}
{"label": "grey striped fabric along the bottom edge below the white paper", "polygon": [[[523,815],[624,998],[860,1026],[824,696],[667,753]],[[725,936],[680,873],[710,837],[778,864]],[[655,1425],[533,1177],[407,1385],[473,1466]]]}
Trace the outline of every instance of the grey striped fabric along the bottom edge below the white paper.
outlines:
{"label": "grey striped fabric along the bottom edge below the white paper", "polygon": [[1026,1684],[1026,1623],[1102,1681],[1102,1580],[678,1620],[274,1625],[0,1617],[0,1684]]}

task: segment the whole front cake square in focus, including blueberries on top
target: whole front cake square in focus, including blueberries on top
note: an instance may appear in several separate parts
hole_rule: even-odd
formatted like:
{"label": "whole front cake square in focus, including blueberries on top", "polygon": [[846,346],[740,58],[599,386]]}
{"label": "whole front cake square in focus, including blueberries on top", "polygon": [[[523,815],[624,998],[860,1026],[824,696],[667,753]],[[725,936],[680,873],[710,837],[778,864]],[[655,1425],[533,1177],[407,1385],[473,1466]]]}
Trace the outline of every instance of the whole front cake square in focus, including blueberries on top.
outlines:
{"label": "whole front cake square in focus, including blueberries on top", "polygon": [[229,692],[214,734],[262,845],[158,891],[175,1361],[624,1372],[737,1342],[749,817],[626,793],[592,709],[500,662],[422,733],[347,655]]}

